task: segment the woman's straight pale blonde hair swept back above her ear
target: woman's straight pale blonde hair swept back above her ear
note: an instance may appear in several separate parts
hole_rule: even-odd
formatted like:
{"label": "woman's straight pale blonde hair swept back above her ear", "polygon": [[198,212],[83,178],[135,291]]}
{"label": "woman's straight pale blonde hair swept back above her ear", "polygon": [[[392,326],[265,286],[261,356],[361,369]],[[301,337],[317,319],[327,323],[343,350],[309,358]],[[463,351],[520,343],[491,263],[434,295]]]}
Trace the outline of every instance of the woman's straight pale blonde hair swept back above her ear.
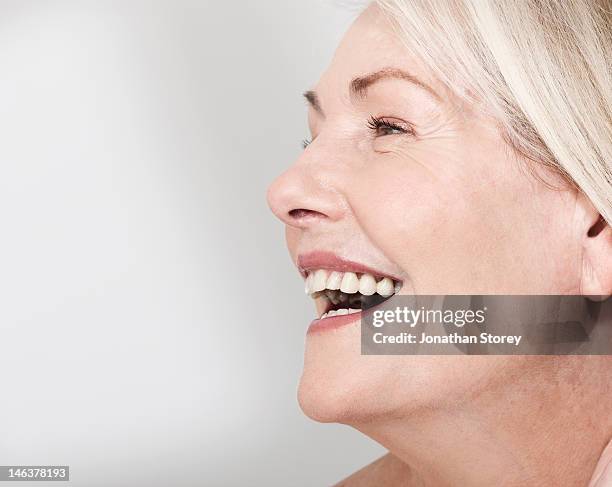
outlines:
{"label": "woman's straight pale blonde hair swept back above her ear", "polygon": [[612,0],[375,3],[436,78],[612,224]]}

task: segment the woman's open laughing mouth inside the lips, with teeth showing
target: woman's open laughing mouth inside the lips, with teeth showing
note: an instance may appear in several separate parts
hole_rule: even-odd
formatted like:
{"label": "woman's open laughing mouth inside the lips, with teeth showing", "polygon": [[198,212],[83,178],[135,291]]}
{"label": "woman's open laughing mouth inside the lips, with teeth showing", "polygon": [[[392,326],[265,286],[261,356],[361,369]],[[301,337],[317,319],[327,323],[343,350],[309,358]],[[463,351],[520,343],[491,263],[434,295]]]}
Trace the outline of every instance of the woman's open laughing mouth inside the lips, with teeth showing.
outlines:
{"label": "woman's open laughing mouth inside the lips, with teeth showing", "polygon": [[400,281],[360,272],[316,269],[306,272],[305,292],[316,302],[319,319],[359,313],[399,292]]}

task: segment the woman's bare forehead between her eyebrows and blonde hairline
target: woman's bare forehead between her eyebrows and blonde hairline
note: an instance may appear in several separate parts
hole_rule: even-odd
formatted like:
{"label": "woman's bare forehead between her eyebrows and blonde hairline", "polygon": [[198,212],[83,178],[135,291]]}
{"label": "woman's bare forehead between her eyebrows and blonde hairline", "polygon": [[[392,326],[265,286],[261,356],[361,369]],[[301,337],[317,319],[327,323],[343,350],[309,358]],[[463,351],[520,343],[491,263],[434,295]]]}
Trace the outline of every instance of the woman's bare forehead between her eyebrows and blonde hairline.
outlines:
{"label": "woman's bare forehead between her eyebrows and blonde hairline", "polygon": [[428,70],[394,32],[389,19],[375,4],[370,5],[346,32],[334,57],[321,76],[316,91],[346,94],[350,81],[384,68],[399,68],[435,87]]}

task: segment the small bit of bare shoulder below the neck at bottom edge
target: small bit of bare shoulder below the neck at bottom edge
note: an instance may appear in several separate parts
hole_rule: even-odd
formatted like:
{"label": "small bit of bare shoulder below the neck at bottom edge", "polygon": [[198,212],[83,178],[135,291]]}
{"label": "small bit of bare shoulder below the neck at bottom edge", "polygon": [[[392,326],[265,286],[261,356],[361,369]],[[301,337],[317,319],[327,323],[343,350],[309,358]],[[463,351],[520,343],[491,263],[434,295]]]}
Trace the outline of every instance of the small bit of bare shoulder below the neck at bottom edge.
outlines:
{"label": "small bit of bare shoulder below the neck at bottom edge", "polygon": [[394,455],[387,453],[341,480],[334,487],[408,487],[412,484],[410,477],[410,468]]}

